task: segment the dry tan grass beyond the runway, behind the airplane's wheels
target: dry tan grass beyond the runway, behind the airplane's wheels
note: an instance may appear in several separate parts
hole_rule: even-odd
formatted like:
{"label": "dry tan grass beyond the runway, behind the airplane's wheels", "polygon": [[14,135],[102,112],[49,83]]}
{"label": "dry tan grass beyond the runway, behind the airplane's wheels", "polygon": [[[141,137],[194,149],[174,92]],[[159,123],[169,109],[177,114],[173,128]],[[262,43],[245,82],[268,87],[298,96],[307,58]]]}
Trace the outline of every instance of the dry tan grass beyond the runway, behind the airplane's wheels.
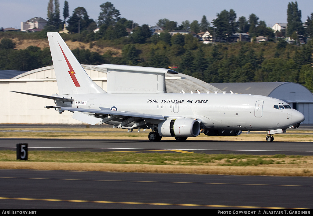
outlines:
{"label": "dry tan grass beyond the runway, behind the airplane's wheels", "polygon": [[[19,131],[19,132],[18,132]],[[66,131],[66,132],[64,132]],[[5,128],[0,130],[2,138],[54,138],[54,139],[136,139],[147,140],[150,130],[145,132],[141,129],[127,132],[125,129],[104,128]],[[297,130],[297,134],[290,134],[292,130],[283,134],[275,134],[275,141],[313,141],[312,131]],[[221,140],[221,141],[265,141],[266,132],[243,132],[239,136],[206,136],[200,134],[188,140]],[[163,137],[162,140],[174,140],[174,138]]]}

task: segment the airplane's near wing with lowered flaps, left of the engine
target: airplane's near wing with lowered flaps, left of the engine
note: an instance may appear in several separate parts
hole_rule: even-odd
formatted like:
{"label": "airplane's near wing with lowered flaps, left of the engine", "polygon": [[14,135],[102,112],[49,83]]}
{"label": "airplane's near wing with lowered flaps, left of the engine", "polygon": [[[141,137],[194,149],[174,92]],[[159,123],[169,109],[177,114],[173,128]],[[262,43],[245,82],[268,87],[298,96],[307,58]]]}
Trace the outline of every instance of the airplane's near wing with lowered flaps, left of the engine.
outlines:
{"label": "airplane's near wing with lowered flaps, left of the engine", "polygon": [[160,121],[167,118],[167,116],[163,115],[116,111],[110,110],[110,108],[84,109],[60,106],[47,106],[46,108],[55,108],[59,112],[63,112],[64,110],[74,112],[73,119],[88,124],[107,123],[125,129],[153,128],[153,125],[157,125]]}

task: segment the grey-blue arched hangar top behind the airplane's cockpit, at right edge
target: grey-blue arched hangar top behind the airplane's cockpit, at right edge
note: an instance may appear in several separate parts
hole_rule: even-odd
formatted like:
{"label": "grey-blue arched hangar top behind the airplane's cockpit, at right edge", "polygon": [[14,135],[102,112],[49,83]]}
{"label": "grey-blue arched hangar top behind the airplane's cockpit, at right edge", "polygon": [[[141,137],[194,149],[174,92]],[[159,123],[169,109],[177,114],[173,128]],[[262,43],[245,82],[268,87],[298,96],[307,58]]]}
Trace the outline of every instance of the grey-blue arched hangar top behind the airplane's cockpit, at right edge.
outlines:
{"label": "grey-blue arched hangar top behind the airplane's cockpit, at right edge", "polygon": [[257,94],[279,98],[287,103],[313,103],[309,89],[294,82],[231,82],[210,83],[222,91],[239,94]]}

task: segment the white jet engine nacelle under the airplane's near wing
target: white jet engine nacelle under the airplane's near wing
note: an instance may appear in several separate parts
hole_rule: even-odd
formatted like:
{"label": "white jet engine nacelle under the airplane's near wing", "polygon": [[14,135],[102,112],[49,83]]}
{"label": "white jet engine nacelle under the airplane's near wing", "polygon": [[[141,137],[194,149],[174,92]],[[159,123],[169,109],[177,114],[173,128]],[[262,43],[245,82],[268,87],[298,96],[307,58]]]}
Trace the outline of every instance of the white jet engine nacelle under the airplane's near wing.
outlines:
{"label": "white jet engine nacelle under the airplane's near wing", "polygon": [[195,137],[200,134],[200,123],[195,119],[167,119],[157,126],[159,135],[165,137]]}

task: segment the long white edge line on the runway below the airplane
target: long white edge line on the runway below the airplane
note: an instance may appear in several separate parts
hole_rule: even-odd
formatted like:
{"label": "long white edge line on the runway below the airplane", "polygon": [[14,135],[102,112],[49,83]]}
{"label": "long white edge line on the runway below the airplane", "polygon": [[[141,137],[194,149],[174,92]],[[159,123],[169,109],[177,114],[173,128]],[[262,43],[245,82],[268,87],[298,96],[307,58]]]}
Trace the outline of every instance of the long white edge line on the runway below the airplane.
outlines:
{"label": "long white edge line on the runway below the airplane", "polygon": [[[15,146],[1,146],[0,148],[16,148]],[[28,147],[28,148],[36,148],[36,149],[128,149],[128,150],[177,150],[177,149],[133,149],[133,148],[71,148],[71,147]],[[179,150],[184,150],[184,151],[196,151],[196,150],[201,150],[201,151],[286,151],[286,152],[313,152],[313,151],[290,151],[290,150],[232,150],[232,149],[179,149]]]}

